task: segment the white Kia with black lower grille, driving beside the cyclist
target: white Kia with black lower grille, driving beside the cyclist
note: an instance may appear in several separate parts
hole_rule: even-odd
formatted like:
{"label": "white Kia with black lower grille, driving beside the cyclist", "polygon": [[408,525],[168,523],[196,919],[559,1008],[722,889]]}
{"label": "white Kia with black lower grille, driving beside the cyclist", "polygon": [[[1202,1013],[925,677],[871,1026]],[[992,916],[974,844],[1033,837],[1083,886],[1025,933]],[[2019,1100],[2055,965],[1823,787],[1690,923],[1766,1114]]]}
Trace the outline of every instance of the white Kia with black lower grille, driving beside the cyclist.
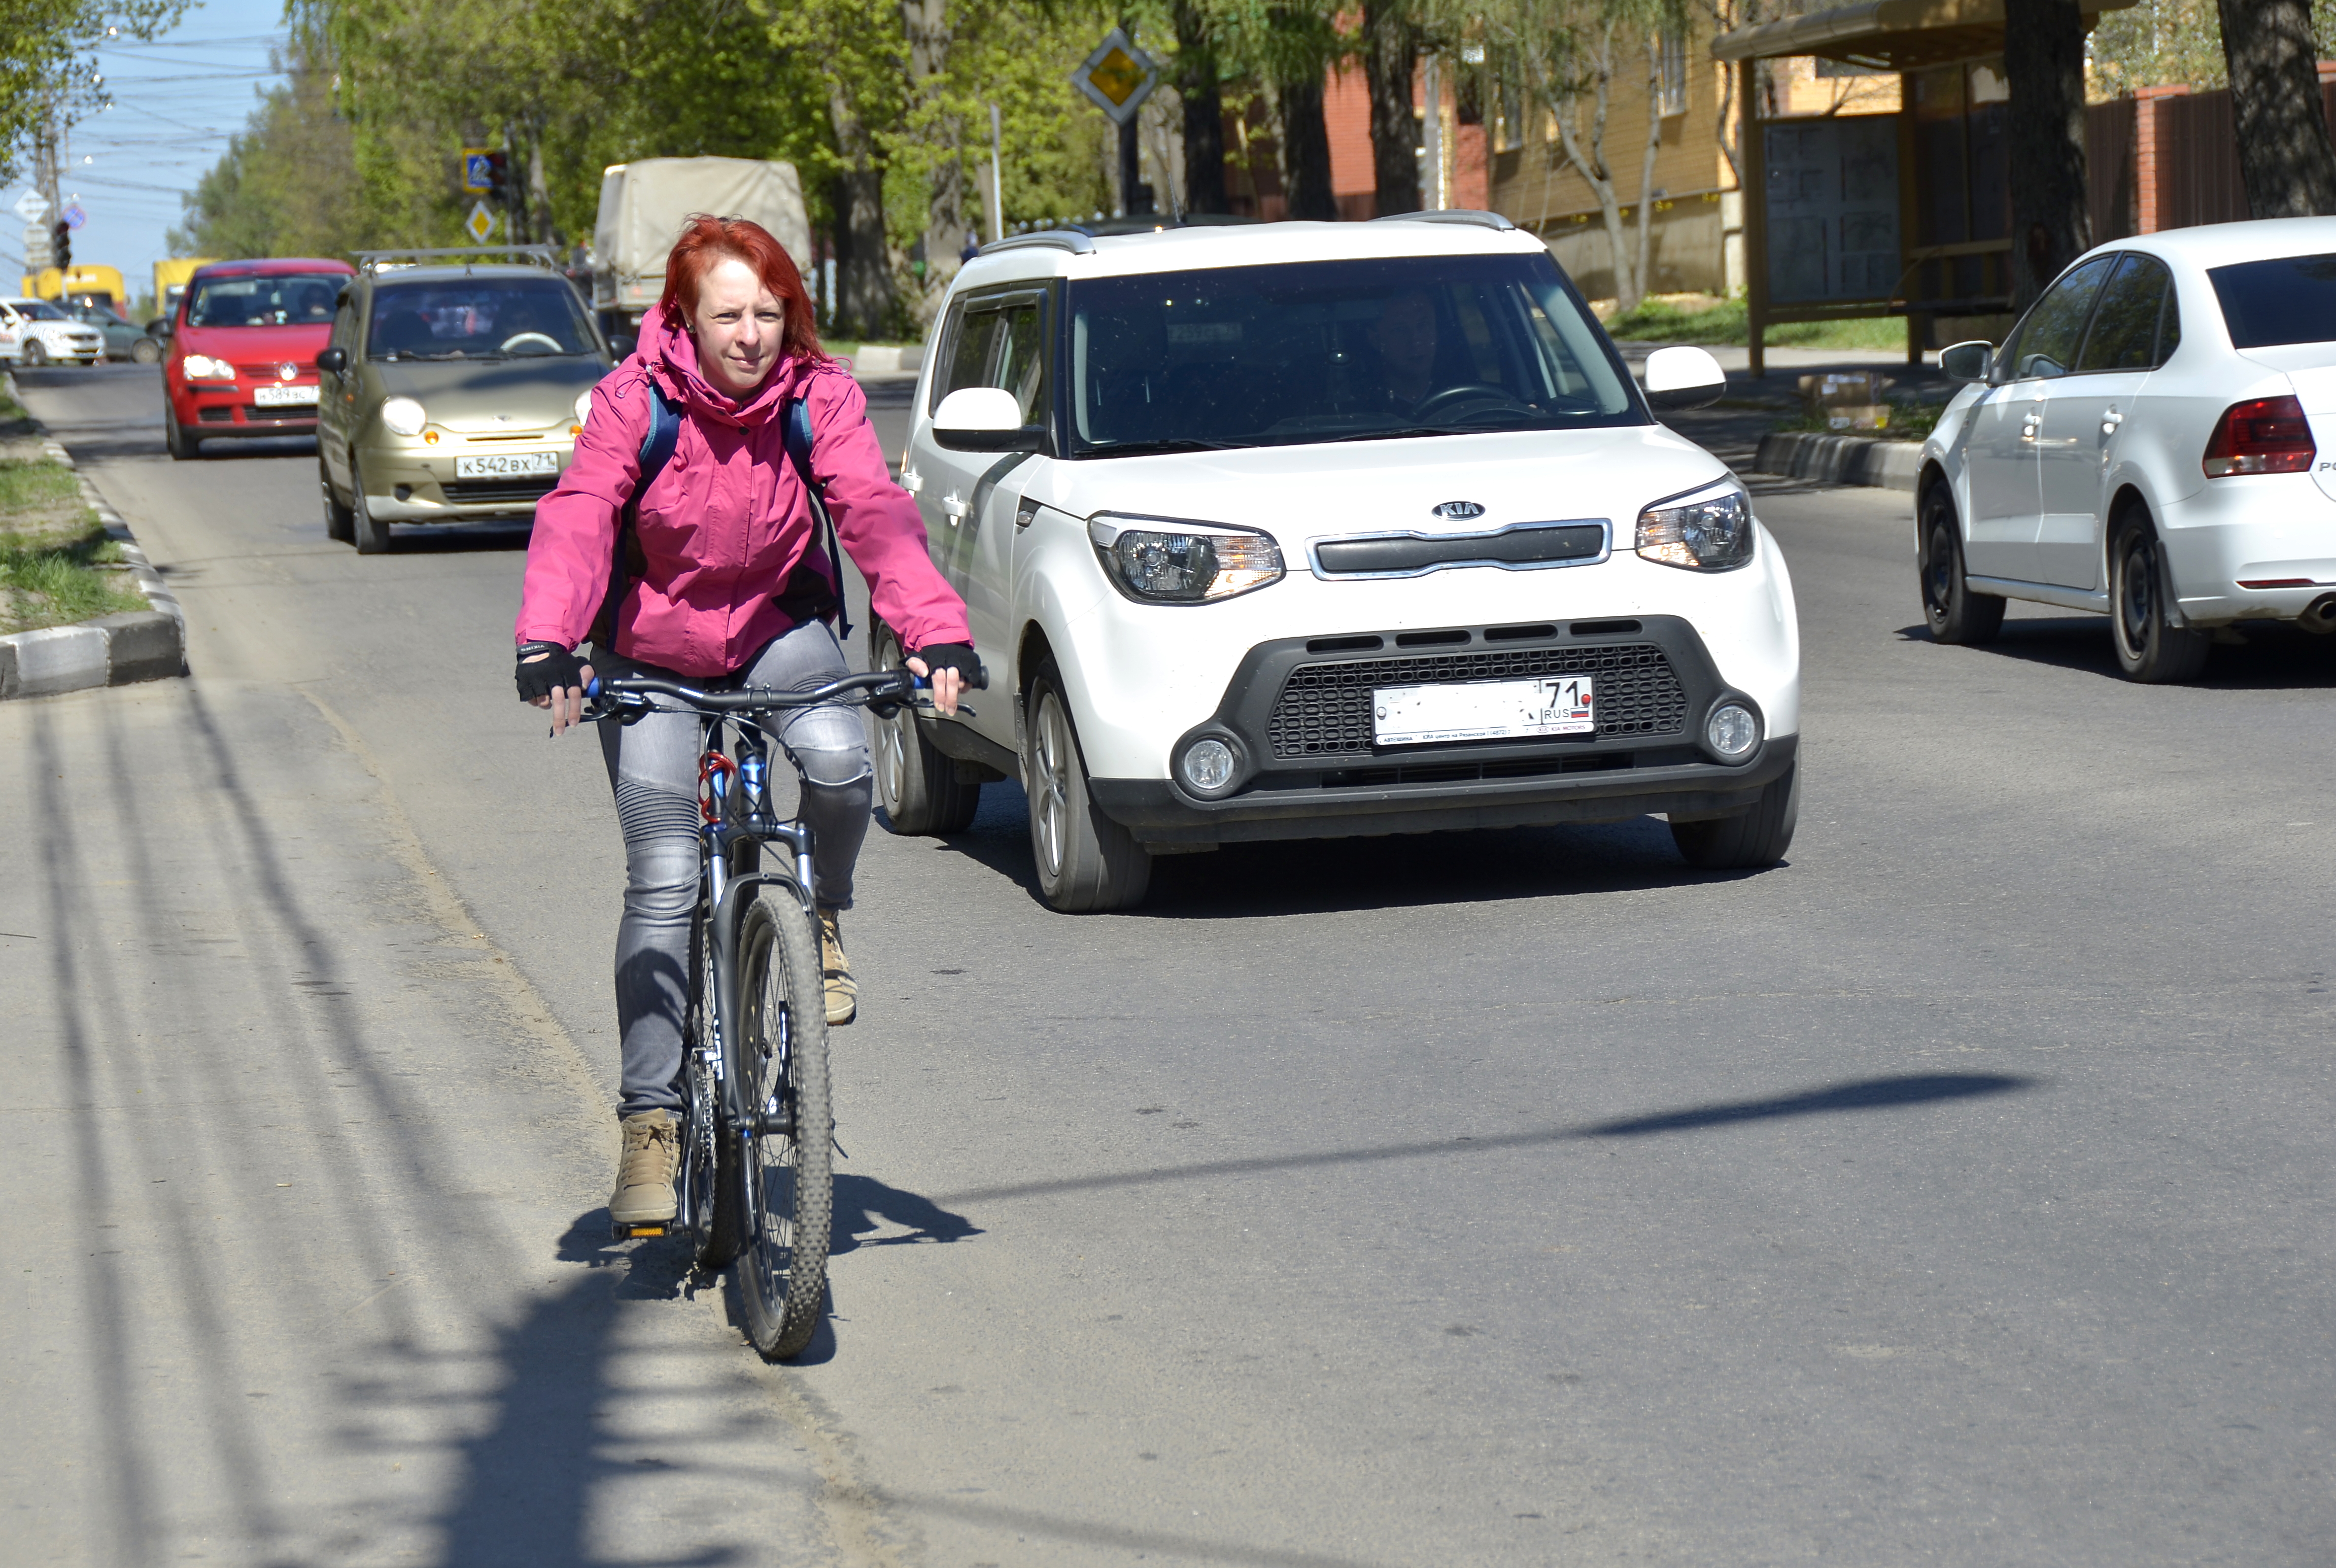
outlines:
{"label": "white Kia with black lower grille, driving beside the cyclist", "polygon": [[[902,484],[988,694],[878,731],[895,832],[1030,799],[1040,893],[1121,909],[1231,841],[1670,818],[1773,865],[1799,806],[1792,580],[1530,234],[1486,213],[988,245]],[[874,629],[878,666],[899,640]]]}

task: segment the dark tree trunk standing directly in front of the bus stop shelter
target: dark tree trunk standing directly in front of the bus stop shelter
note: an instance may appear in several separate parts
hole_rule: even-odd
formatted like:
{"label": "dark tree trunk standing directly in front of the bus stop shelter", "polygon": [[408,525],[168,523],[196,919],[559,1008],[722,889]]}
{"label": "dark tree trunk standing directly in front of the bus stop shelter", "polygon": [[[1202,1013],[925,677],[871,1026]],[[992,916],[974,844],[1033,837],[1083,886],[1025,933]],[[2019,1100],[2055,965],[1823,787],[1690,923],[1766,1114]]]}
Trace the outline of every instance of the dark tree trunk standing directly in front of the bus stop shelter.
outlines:
{"label": "dark tree trunk standing directly in front of the bus stop shelter", "polygon": [[2011,91],[2011,306],[2044,292],[2093,248],[2084,196],[2084,16],[2077,0],[2004,7]]}

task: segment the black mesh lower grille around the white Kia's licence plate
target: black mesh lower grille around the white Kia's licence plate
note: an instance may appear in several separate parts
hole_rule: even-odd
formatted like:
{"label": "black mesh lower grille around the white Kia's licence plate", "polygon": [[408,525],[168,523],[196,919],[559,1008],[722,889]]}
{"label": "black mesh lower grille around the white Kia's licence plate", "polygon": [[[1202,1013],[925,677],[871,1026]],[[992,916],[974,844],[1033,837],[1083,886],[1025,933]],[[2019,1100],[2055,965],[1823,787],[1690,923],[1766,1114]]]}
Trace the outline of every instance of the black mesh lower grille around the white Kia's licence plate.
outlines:
{"label": "black mesh lower grille around the white Kia's licence plate", "polygon": [[1371,692],[1376,687],[1458,685],[1469,680],[1530,680],[1535,675],[1593,675],[1598,680],[1598,738],[1687,734],[1687,687],[1670,657],[1654,643],[1574,643],[1483,654],[1416,654],[1301,664],[1289,671],[1266,743],[1275,759],[1369,755]]}

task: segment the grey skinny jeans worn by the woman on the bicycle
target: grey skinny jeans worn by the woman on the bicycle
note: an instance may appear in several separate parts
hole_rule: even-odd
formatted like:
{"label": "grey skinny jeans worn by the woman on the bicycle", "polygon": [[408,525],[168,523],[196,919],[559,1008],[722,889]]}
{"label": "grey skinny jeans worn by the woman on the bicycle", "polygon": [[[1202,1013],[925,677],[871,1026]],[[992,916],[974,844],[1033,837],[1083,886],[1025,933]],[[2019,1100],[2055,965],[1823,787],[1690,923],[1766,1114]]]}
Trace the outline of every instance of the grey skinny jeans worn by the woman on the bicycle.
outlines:
{"label": "grey skinny jeans worn by the woman on the bicycle", "polygon": [[[698,680],[593,650],[593,673],[661,675],[703,689],[801,692],[848,673],[836,633],[806,622],[776,638],[734,675]],[[778,741],[804,766],[801,813],[811,823],[811,895],[850,909],[853,865],[869,832],[869,745],[853,708],[801,708]],[[689,918],[698,902],[698,757],[703,720],[652,713],[638,724],[600,724],[600,752],[624,827],[624,918],[617,923],[617,1033],[624,1052],[617,1115],[682,1108],[682,1017],[689,1010]],[[773,806],[785,769],[773,757]]]}

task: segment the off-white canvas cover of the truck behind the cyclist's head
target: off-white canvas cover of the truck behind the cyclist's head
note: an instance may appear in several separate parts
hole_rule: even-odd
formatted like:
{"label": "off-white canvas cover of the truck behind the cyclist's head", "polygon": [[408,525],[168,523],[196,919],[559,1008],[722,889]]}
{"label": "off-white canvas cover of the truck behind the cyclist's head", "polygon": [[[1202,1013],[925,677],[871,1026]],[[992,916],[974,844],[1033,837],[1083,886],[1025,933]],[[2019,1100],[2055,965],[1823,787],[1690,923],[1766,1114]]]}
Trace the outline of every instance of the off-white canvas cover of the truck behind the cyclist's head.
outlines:
{"label": "off-white canvas cover of the truck behind the cyclist's head", "polygon": [[811,271],[811,220],[794,164],[757,159],[640,159],[600,175],[593,224],[593,306],[647,311],[666,290],[666,255],[691,213],[750,217]]}

